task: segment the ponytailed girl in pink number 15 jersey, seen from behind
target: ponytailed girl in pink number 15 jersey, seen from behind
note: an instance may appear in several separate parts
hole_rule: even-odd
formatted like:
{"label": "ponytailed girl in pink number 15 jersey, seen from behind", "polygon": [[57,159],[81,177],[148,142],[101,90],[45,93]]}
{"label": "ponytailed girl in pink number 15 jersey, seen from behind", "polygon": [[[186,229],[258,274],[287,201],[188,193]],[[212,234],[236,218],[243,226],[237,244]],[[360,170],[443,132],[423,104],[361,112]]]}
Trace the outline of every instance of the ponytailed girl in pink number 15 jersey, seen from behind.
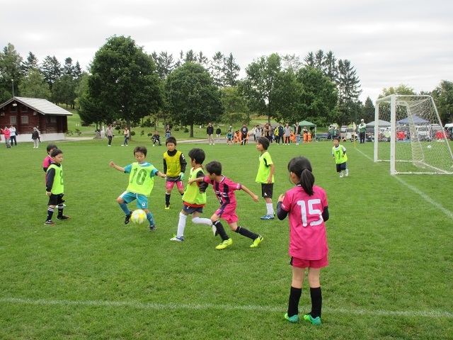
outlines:
{"label": "ponytailed girl in pink number 15 jersey, seen from behind", "polygon": [[288,164],[289,176],[296,186],[280,195],[277,217],[284,220],[289,214],[289,256],[292,265],[292,283],[289,291],[288,312],[285,319],[299,321],[299,299],[305,268],[311,296],[311,312],[304,315],[306,321],[321,324],[321,284],[319,273],[328,265],[326,226],[328,204],[326,191],[314,185],[311,164],[305,157],[294,157]]}

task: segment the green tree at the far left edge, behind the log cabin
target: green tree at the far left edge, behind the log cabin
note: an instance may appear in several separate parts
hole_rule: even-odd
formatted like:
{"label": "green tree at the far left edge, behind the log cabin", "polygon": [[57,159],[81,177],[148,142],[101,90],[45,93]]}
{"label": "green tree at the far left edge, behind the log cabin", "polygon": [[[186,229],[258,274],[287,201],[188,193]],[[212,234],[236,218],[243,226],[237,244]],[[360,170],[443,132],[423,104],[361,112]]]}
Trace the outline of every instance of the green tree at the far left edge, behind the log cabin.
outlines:
{"label": "green tree at the far left edge, behind the log cabin", "polygon": [[3,52],[0,52],[0,103],[13,96],[13,86],[14,96],[20,95],[18,86],[23,79],[22,57],[14,45],[8,43]]}

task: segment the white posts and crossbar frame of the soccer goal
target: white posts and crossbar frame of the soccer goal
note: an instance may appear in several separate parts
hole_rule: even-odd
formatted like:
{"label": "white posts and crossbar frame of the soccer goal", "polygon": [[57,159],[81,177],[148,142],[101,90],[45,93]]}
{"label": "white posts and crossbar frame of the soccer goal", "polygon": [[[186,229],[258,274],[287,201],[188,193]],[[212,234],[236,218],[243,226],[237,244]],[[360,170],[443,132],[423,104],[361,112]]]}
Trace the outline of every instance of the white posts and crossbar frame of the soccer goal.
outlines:
{"label": "white posts and crossbar frame of the soccer goal", "polygon": [[[449,167],[449,169],[445,169],[445,166],[444,166],[444,169],[440,169],[439,167],[436,167],[435,165],[428,164],[427,162],[425,162],[425,157],[423,154],[425,152],[425,150],[419,146],[420,140],[418,140],[418,137],[411,137],[412,152],[414,154],[415,153],[414,149],[416,149],[418,157],[413,157],[413,159],[405,160],[405,161],[403,161],[401,159],[396,159],[396,143],[398,143],[397,137],[396,137],[396,132],[397,132],[396,131],[396,128],[397,128],[396,107],[397,106],[406,107],[406,110],[408,111],[409,125],[412,125],[412,128],[413,128],[414,123],[413,123],[413,120],[411,120],[411,117],[412,117],[411,108],[408,105],[408,101],[411,101],[411,97],[413,97],[414,103],[417,103],[418,101],[420,101],[420,102],[430,101],[430,103],[432,105],[433,113],[435,113],[435,116],[436,116],[435,122],[430,122],[430,123],[438,124],[442,128],[443,137],[442,137],[442,140],[439,140],[439,141],[445,142],[445,143],[442,143],[442,145],[445,144],[445,151],[443,151],[443,152],[445,153],[445,155],[449,154],[449,156],[445,156],[445,157],[450,157],[449,160],[451,160],[451,163],[452,163],[452,166]],[[381,104],[381,103],[390,104],[390,138],[389,138],[389,140],[390,140],[390,157],[389,157],[389,159],[379,159],[379,154],[378,154],[379,143],[382,143],[382,142],[379,142],[379,137],[378,137],[379,132],[381,132],[381,130],[379,129],[379,120],[382,120],[382,116],[379,115],[379,104]],[[439,113],[437,112],[437,108],[436,108],[434,100],[432,99],[431,96],[428,96],[428,95],[409,96],[409,95],[392,94],[392,95],[386,96],[384,98],[379,98],[376,101],[375,112],[374,112],[374,122],[375,122],[374,123],[375,124],[374,125],[374,162],[390,162],[390,174],[392,174],[392,175],[395,175],[395,174],[453,174],[452,149],[449,146],[447,136],[445,135],[445,130],[442,126],[442,122],[440,121]],[[413,133],[413,134],[411,134],[411,136],[412,135],[416,135],[416,134]],[[413,139],[415,139],[415,142],[413,141]],[[431,147],[428,146],[428,148],[431,148]],[[421,153],[421,157],[420,157],[420,153]],[[449,162],[449,160],[447,160],[447,162]],[[411,162],[413,165],[423,168],[424,170],[423,171],[397,171],[396,170],[397,162]]]}

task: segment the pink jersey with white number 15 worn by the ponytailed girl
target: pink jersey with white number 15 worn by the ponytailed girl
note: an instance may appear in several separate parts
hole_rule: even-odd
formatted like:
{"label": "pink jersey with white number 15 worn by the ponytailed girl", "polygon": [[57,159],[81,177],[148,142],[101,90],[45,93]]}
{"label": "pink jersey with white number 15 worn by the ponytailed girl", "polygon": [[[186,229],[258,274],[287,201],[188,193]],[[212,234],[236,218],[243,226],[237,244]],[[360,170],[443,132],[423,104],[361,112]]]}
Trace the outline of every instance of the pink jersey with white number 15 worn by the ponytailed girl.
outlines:
{"label": "pink jersey with white number 15 worn by the ponytailed girl", "polygon": [[282,209],[289,212],[289,256],[319,260],[328,254],[326,226],[322,213],[328,206],[326,191],[313,186],[314,195],[302,186],[287,191]]}

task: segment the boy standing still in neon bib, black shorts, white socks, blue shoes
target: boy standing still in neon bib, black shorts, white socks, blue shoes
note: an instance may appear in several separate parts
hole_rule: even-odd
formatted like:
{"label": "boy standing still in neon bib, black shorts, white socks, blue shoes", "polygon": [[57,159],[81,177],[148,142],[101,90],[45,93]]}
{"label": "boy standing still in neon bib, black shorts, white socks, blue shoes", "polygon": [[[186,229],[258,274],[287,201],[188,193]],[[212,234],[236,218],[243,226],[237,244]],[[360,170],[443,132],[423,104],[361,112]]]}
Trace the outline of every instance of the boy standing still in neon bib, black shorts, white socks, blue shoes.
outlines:
{"label": "boy standing still in neon bib, black shorts, white socks, blue shoes", "polygon": [[268,152],[269,140],[266,137],[259,137],[256,142],[256,149],[261,153],[258,166],[258,174],[255,181],[261,184],[261,196],[266,203],[267,213],[261,216],[261,220],[273,220],[274,208],[272,205],[272,196],[274,189],[274,170],[275,166]]}

